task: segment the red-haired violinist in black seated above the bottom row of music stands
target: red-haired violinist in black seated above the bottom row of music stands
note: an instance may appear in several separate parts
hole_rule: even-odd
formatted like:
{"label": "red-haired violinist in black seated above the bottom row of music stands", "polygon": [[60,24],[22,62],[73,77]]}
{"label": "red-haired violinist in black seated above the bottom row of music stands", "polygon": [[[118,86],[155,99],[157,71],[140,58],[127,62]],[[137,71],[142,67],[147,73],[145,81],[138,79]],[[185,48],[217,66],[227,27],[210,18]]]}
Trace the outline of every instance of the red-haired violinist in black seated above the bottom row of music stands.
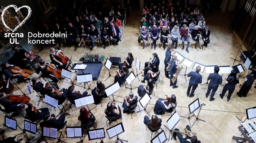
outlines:
{"label": "red-haired violinist in black seated above the bottom row of music stands", "polygon": [[92,114],[91,111],[87,111],[87,109],[85,107],[82,107],[80,109],[80,115],[78,116],[78,120],[81,121],[81,124],[88,124],[90,122],[92,122],[91,125],[88,126],[88,128],[93,127],[94,122],[95,122],[95,116]]}

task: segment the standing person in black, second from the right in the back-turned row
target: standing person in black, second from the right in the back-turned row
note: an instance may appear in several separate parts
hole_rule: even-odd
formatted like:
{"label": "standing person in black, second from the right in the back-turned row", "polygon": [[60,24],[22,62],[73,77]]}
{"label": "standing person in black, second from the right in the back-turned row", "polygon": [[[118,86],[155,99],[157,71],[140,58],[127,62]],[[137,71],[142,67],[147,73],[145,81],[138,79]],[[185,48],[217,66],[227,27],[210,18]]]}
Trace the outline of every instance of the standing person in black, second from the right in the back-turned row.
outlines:
{"label": "standing person in black, second from the right in the back-turned row", "polygon": [[220,94],[221,99],[223,99],[223,96],[228,90],[227,101],[230,100],[230,97],[235,90],[235,85],[239,85],[239,79],[236,77],[236,75],[237,75],[237,72],[235,72],[235,70],[232,70],[231,73],[228,75],[226,84]]}

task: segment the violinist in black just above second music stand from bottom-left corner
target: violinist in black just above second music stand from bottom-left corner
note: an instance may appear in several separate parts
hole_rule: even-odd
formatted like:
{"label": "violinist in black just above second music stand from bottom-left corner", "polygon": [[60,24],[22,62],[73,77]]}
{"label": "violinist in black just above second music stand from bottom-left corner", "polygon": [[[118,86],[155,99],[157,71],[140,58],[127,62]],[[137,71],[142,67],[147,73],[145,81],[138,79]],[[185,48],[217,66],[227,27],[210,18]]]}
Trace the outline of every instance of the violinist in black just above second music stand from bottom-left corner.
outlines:
{"label": "violinist in black just above second music stand from bottom-left corner", "polygon": [[36,109],[35,106],[28,103],[19,104],[19,114],[32,122],[43,119],[46,112],[49,112],[48,108]]}

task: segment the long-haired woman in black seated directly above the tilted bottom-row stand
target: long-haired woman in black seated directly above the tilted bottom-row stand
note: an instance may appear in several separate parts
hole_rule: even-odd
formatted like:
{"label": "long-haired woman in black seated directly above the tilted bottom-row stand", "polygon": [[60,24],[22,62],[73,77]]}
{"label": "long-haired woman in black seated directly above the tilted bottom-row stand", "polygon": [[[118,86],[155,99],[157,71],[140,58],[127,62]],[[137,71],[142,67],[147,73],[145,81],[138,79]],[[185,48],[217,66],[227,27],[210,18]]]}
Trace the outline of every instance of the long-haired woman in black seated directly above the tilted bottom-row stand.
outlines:
{"label": "long-haired woman in black seated directly above the tilted bottom-row stand", "polygon": [[105,108],[104,113],[107,117],[115,117],[115,119],[111,121],[116,121],[122,116],[120,107],[112,102],[107,104],[107,108]]}

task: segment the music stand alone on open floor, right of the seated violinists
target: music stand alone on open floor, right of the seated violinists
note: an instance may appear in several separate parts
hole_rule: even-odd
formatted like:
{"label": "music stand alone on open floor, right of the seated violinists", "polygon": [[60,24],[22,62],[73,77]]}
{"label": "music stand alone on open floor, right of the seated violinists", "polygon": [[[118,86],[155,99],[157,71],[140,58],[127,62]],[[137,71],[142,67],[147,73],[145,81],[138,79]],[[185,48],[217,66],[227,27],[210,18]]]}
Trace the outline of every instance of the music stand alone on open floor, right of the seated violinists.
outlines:
{"label": "music stand alone on open floor, right of the seated violinists", "polygon": [[[201,106],[200,106],[201,105]],[[190,119],[191,117],[195,116],[194,112],[199,109],[199,112],[197,114],[197,116],[195,116],[195,122],[197,120],[200,120],[200,121],[204,121],[202,119],[199,119],[199,114],[200,114],[200,111],[201,111],[201,108],[204,104],[199,104],[199,98],[195,99],[192,103],[189,104],[189,117],[185,117],[185,118],[188,118]],[[193,114],[192,116],[190,116],[190,114]],[[180,117],[184,117],[184,116],[180,116]],[[195,124],[195,122],[192,124],[192,126]],[[205,122],[205,121],[204,121]],[[190,124],[190,120],[189,120],[189,125],[190,125],[190,128],[191,128],[191,124]]]}

